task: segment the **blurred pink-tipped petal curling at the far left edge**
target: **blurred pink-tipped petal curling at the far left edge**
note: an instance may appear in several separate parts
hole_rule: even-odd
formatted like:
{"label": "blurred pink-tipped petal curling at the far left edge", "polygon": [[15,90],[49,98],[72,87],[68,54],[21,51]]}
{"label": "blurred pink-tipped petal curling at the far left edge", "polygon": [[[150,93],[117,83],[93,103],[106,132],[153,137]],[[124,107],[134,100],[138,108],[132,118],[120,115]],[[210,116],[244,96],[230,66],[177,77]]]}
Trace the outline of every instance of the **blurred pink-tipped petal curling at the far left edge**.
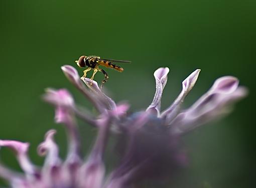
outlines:
{"label": "blurred pink-tipped petal curling at the far left edge", "polygon": [[28,157],[29,143],[19,142],[15,140],[0,140],[0,146],[10,147],[16,152],[17,159],[22,167],[22,169],[27,174],[34,174],[36,169],[34,165],[30,162]]}

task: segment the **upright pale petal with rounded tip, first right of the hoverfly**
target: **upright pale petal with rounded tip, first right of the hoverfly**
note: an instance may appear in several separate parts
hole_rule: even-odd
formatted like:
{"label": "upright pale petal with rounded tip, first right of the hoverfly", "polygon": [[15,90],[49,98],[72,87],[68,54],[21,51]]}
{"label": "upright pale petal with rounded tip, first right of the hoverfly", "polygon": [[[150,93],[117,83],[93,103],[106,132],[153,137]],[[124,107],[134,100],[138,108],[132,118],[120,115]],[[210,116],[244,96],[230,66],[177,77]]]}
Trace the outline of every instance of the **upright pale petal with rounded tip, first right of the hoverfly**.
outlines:
{"label": "upright pale petal with rounded tip, first right of the hoverfly", "polygon": [[167,75],[169,73],[169,68],[159,68],[155,71],[154,77],[156,80],[156,92],[151,105],[147,108],[147,111],[151,111],[155,114],[160,114],[160,103],[162,98],[162,93],[167,83]]}

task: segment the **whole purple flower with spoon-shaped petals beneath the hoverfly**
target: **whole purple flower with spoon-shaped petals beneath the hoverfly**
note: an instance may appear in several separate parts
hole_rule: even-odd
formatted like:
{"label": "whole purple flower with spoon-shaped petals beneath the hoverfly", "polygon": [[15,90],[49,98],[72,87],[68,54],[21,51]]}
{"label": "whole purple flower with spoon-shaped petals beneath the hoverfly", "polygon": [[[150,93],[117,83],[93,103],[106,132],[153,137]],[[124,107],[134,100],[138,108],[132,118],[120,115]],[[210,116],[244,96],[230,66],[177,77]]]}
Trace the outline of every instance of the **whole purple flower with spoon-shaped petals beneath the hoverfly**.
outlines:
{"label": "whole purple flower with spoon-shaped petals beneath the hoverfly", "polygon": [[[97,82],[79,77],[72,66],[63,66],[68,80],[92,103],[98,115],[78,106],[66,89],[47,89],[44,100],[54,105],[55,121],[67,129],[68,153],[65,160],[58,154],[54,141],[55,130],[49,130],[38,146],[39,155],[45,155],[43,167],[35,166],[28,157],[29,143],[0,140],[0,146],[12,148],[24,173],[15,172],[0,163],[0,176],[11,187],[134,187],[148,178],[170,177],[186,164],[179,138],[197,126],[230,112],[231,105],[246,95],[232,76],[217,79],[213,86],[191,107],[181,110],[182,102],[196,83],[200,70],[191,73],[182,82],[182,91],[164,111],[160,111],[163,90],[169,68],[155,71],[156,93],[145,111],[127,115],[129,105],[116,104],[98,87]],[[84,82],[84,83],[83,83]],[[79,131],[75,117],[98,129],[91,152],[85,160],[80,156]],[[104,149],[108,136],[116,136],[116,151],[120,161],[105,174]]]}

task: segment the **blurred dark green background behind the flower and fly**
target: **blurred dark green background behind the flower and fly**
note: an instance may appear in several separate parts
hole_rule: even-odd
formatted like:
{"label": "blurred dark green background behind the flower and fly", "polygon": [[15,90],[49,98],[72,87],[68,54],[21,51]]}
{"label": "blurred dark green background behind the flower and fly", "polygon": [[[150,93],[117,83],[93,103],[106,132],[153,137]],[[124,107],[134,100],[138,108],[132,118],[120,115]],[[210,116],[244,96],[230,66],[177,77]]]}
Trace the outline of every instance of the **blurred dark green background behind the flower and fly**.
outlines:
{"label": "blurred dark green background behind the flower and fly", "polygon": [[[65,156],[65,132],[53,122],[54,110],[41,100],[44,88],[68,88],[78,103],[92,107],[60,70],[80,55],[131,60],[124,72],[106,70],[105,90],[131,111],[145,109],[155,92],[155,69],[171,69],[162,106],[181,90],[181,82],[201,68],[189,106],[223,75],[239,78],[249,96],[232,114],[184,137],[190,165],[174,187],[252,187],[255,184],[255,1],[0,1],[0,138],[36,147],[50,129]],[[82,74],[82,70],[79,69]],[[98,73],[96,80],[103,76]],[[95,130],[80,123],[84,151]],[[1,160],[17,168],[10,150]]]}

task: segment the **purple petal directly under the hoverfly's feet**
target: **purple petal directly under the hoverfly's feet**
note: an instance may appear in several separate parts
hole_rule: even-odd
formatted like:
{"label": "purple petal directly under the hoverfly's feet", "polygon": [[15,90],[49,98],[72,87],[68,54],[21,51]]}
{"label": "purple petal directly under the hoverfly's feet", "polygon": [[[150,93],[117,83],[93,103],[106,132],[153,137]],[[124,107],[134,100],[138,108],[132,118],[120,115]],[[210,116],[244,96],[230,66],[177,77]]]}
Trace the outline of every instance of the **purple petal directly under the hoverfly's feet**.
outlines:
{"label": "purple petal directly under the hoverfly's feet", "polygon": [[100,90],[96,81],[84,77],[81,77],[81,80],[93,92],[94,96],[97,97],[97,100],[99,100],[105,108],[109,110],[116,108],[115,102]]}

